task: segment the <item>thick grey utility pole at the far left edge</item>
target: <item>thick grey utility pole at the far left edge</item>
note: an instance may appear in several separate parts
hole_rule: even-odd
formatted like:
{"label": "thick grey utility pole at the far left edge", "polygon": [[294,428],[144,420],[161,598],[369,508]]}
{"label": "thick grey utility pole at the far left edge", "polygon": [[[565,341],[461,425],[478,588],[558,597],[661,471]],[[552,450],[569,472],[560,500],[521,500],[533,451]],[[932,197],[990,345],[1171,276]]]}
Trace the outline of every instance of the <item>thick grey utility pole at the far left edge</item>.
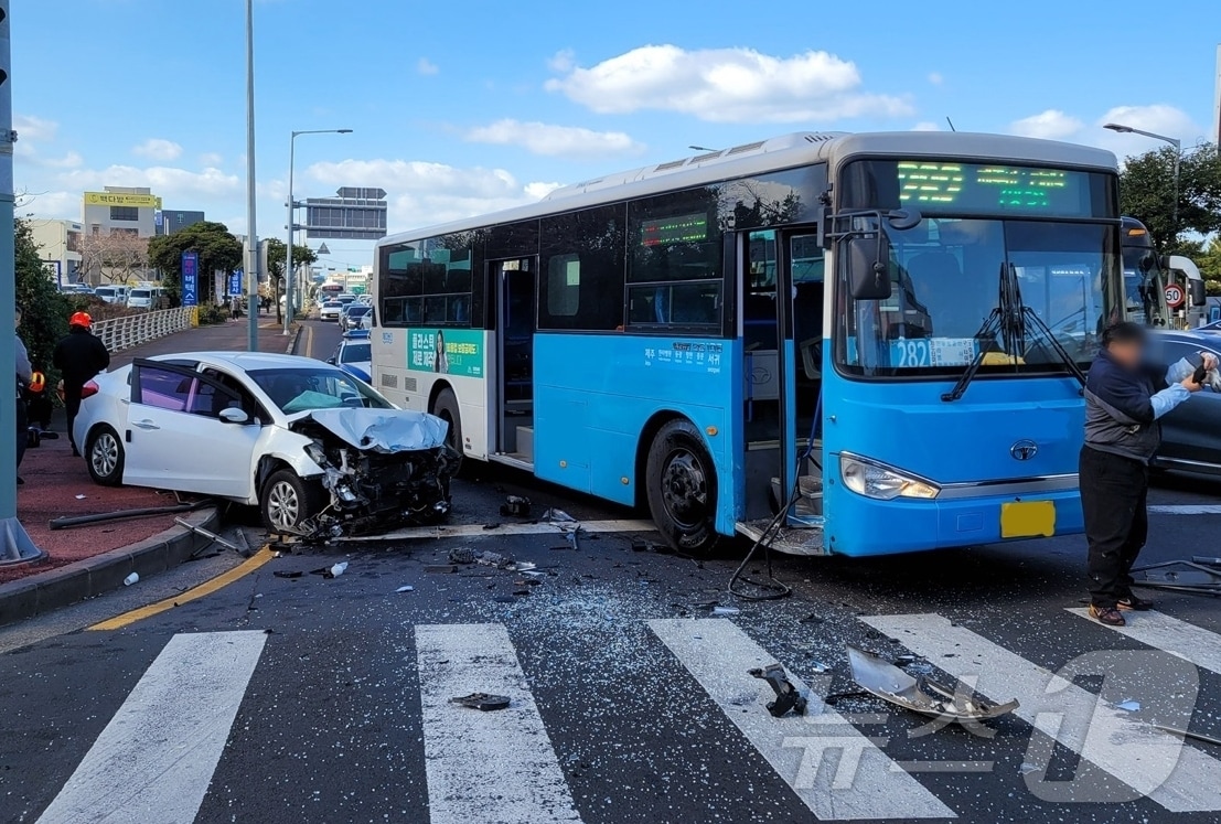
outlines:
{"label": "thick grey utility pole at the far left edge", "polygon": [[[9,28],[9,0],[0,0],[0,370],[17,361],[15,308],[17,277],[16,237],[13,232],[12,144],[12,43]],[[16,375],[7,386],[0,385],[0,430],[17,420]],[[46,553],[34,546],[26,527],[17,520],[17,437],[13,430],[0,431],[0,566],[42,558]]]}

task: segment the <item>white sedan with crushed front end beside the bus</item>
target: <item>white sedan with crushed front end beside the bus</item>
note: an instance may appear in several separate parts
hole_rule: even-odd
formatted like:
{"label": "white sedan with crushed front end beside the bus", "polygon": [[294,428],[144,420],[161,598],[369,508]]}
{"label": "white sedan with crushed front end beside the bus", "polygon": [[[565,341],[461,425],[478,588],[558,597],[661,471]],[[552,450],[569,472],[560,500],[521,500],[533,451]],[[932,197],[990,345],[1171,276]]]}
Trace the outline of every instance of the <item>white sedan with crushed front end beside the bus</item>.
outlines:
{"label": "white sedan with crushed front end beside the bus", "polygon": [[267,529],[338,537],[449,508],[448,426],[311,358],[200,352],[87,387],[73,435],[96,483],[258,505]]}

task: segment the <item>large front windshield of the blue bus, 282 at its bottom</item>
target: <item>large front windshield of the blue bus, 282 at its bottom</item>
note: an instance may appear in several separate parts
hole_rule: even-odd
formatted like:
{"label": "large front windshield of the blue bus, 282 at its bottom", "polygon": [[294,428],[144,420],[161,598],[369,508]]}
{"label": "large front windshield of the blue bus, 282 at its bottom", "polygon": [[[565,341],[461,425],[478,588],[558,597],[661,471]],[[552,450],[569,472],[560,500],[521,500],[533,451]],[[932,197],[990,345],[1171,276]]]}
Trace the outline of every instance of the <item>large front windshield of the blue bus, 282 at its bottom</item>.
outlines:
{"label": "large front windshield of the blue bus, 282 at its bottom", "polygon": [[[980,354],[985,372],[1063,369],[1033,323],[1024,341],[1015,342],[1020,352],[1005,352],[1001,336],[984,330],[1005,273],[1015,276],[1022,305],[1074,361],[1093,359],[1118,267],[1114,227],[926,217],[911,229],[886,232],[891,293],[882,300],[847,299],[836,361],[849,374],[957,375]],[[847,266],[840,271],[845,292]]]}

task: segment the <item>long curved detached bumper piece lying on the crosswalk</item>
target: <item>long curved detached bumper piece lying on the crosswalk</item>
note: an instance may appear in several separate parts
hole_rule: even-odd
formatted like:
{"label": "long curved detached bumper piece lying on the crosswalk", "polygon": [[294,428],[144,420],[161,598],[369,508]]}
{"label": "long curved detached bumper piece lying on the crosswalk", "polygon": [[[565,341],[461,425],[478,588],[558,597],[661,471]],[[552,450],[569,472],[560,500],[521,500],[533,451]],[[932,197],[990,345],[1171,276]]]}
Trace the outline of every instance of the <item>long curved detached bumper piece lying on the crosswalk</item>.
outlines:
{"label": "long curved detached bumper piece lying on the crosswalk", "polygon": [[1017,709],[1017,701],[994,703],[974,692],[952,688],[927,678],[915,678],[894,664],[856,647],[847,647],[852,680],[866,692],[922,715],[971,724]]}

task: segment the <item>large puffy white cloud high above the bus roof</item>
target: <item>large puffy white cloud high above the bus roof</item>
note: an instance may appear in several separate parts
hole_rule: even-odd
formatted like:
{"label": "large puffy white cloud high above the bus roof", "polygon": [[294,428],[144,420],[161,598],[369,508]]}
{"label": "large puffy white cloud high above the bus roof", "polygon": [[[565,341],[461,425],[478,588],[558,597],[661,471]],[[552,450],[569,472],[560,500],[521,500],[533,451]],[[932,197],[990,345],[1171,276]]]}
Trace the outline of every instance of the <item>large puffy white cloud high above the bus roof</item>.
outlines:
{"label": "large puffy white cloud high above the bus roof", "polygon": [[827,51],[773,57],[647,45],[563,73],[546,88],[601,114],[653,109],[713,122],[794,122],[911,112],[906,100],[862,92],[856,66]]}

